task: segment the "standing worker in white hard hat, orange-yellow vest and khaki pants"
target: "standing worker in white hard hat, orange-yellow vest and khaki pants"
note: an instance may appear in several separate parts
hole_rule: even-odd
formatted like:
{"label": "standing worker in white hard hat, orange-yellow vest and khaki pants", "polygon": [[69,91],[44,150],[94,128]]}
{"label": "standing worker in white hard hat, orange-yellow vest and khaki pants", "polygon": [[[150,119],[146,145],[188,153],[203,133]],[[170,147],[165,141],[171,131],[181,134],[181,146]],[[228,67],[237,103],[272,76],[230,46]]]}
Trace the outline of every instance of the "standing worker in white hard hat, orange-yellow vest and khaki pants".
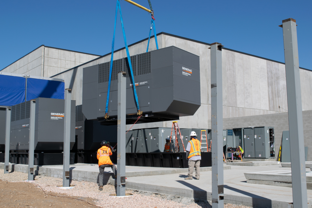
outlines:
{"label": "standing worker in white hard hat, orange-yellow vest and khaki pants", "polygon": [[193,179],[193,169],[195,166],[196,179],[199,180],[200,174],[200,160],[202,159],[200,151],[202,149],[202,145],[200,141],[197,140],[197,134],[192,131],[191,140],[188,142],[188,146],[186,147],[186,157],[188,158],[188,177],[184,178],[184,180],[192,180]]}

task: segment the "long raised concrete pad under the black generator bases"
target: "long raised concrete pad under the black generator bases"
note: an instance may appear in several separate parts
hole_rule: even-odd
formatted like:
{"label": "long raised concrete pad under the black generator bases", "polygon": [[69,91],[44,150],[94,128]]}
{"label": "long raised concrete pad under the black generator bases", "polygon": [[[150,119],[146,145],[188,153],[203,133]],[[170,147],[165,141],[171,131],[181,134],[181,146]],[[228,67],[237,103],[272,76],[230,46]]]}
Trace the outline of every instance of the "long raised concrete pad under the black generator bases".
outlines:
{"label": "long raised concrete pad under the black generator bases", "polygon": [[[231,167],[225,167],[230,169]],[[200,170],[211,171],[211,167],[201,167]],[[195,170],[194,170],[195,171]],[[126,177],[137,176],[153,176],[164,174],[177,174],[187,173],[188,168],[163,168],[163,167],[138,167],[138,166],[126,166]],[[63,166],[41,166],[39,168],[39,175],[45,175],[49,177],[62,178]],[[82,165],[70,165],[70,179],[79,181],[91,181],[98,183],[99,167],[97,164],[82,164]],[[103,183],[110,183],[110,179],[114,178],[114,174],[111,168],[105,168]]]}

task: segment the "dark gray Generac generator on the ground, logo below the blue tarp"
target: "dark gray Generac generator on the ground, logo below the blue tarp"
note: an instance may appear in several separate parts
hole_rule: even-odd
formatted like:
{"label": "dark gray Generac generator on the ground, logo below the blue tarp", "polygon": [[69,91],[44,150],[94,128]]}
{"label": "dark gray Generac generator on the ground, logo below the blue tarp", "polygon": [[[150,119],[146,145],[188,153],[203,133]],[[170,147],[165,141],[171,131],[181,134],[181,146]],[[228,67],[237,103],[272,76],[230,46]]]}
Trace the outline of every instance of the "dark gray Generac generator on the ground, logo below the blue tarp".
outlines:
{"label": "dark gray Generac generator on the ground, logo below the blue tarp", "polygon": [[[75,105],[71,101],[71,146],[75,143]],[[63,150],[65,100],[36,99],[35,150]],[[30,101],[11,107],[10,150],[29,149]]]}

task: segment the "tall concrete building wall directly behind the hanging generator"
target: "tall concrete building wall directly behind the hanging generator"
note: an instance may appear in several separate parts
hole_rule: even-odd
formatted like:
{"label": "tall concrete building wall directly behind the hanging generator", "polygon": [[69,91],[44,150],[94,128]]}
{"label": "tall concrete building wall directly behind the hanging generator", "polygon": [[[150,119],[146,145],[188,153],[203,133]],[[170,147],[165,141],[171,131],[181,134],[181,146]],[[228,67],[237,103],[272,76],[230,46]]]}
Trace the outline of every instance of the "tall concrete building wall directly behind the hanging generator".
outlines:
{"label": "tall concrete building wall directly behind the hanging generator", "polygon": [[[201,107],[193,116],[180,117],[180,128],[208,128],[211,118],[210,46],[170,34],[157,36],[158,47],[176,46],[200,56]],[[130,56],[146,52],[147,40],[129,46]],[[149,51],[156,50],[154,38]],[[114,52],[114,60],[126,57],[125,49]],[[72,99],[82,104],[83,68],[110,61],[110,54],[92,60],[75,69],[54,76],[65,79],[72,89]],[[254,57],[231,49],[222,50],[223,117],[233,118],[286,112],[285,65]],[[311,110],[312,72],[300,69],[303,110]],[[280,108],[279,108],[280,106]],[[130,128],[128,125],[127,128]],[[172,127],[172,122],[135,124],[133,128]]]}

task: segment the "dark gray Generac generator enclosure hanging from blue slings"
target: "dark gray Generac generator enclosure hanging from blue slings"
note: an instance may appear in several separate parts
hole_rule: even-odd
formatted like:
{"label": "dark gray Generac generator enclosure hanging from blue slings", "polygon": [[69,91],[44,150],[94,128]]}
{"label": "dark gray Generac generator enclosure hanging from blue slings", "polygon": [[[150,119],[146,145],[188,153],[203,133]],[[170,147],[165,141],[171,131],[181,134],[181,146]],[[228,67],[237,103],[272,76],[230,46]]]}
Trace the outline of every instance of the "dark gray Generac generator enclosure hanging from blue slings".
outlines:
{"label": "dark gray Generac generator enclosure hanging from blue slings", "polygon": [[137,120],[133,84],[140,111],[143,112],[137,123],[177,120],[180,116],[195,114],[201,105],[199,56],[170,46],[130,58],[135,83],[132,83],[127,58],[113,61],[108,119],[104,119],[104,116],[110,62],[83,69],[82,112],[88,120],[99,119],[102,125],[117,123],[119,71],[128,73],[127,124]]}

